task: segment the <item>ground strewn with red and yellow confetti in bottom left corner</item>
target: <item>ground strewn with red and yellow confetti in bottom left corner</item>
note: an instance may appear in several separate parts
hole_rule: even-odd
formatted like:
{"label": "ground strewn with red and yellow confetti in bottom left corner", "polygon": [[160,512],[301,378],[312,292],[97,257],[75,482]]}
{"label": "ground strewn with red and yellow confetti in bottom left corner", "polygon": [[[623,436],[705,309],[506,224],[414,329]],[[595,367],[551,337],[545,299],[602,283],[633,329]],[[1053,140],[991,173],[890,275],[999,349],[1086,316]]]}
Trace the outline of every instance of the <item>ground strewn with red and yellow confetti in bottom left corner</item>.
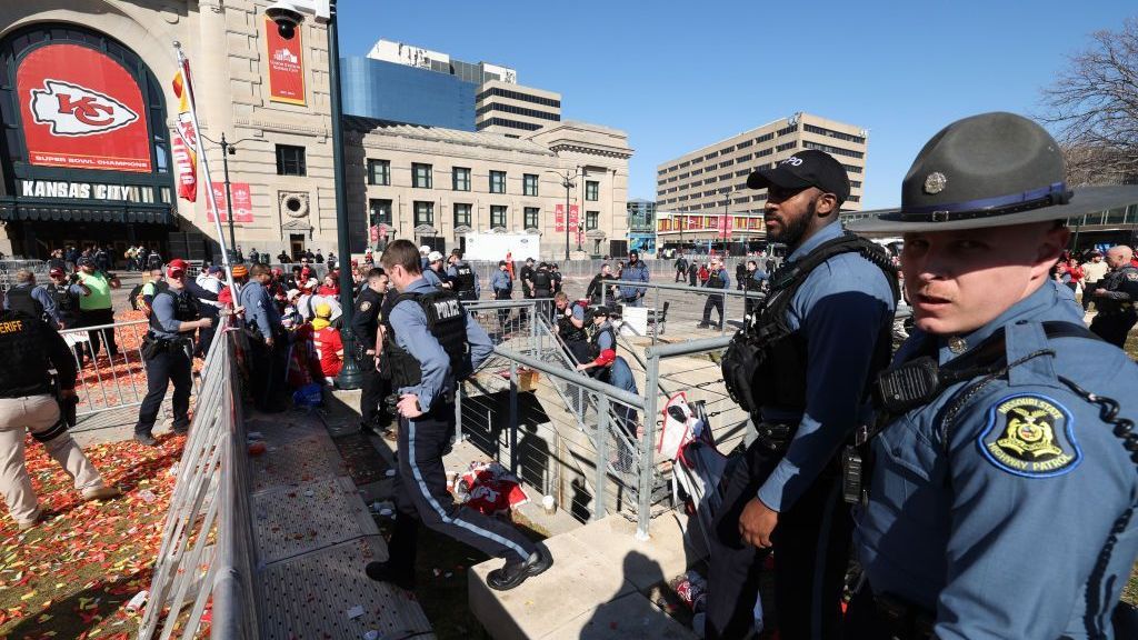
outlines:
{"label": "ground strewn with red and yellow confetti in bottom left corner", "polygon": [[[159,446],[115,442],[85,448],[123,495],[85,502],[43,445],[25,442],[27,469],[47,514],[20,533],[0,520],[0,638],[126,639],[139,615],[126,602],[150,588],[185,438]],[[145,497],[145,498],[143,498]]]}

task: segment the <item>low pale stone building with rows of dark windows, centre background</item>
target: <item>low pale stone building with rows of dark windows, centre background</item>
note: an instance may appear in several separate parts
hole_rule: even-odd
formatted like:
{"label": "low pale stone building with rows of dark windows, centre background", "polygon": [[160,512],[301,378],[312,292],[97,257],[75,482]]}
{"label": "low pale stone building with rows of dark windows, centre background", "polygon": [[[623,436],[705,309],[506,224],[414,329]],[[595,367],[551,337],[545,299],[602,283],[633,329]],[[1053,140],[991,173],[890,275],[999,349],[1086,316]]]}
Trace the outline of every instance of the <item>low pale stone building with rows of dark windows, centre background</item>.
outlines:
{"label": "low pale stone building with rows of dark windows, centre background", "polygon": [[[376,248],[409,238],[447,252],[471,232],[528,232],[550,260],[564,257],[567,235],[572,252],[627,251],[633,149],[622,131],[567,121],[513,139],[346,117],[345,145],[351,224],[374,229]],[[578,170],[566,224],[560,175]]]}

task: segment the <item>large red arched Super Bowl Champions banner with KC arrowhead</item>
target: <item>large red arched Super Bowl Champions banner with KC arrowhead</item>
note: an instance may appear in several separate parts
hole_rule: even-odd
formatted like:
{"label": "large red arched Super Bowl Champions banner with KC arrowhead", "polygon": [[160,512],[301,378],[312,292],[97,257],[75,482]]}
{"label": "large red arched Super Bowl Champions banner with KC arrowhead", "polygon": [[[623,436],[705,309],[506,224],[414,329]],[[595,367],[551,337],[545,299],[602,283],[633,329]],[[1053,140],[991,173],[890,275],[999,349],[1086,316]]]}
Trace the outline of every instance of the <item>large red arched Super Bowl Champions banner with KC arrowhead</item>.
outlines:
{"label": "large red arched Super Bowl Champions banner with KC arrowhead", "polygon": [[142,92],[110,57],[79,44],[40,47],[20,60],[16,89],[28,163],[150,172]]}

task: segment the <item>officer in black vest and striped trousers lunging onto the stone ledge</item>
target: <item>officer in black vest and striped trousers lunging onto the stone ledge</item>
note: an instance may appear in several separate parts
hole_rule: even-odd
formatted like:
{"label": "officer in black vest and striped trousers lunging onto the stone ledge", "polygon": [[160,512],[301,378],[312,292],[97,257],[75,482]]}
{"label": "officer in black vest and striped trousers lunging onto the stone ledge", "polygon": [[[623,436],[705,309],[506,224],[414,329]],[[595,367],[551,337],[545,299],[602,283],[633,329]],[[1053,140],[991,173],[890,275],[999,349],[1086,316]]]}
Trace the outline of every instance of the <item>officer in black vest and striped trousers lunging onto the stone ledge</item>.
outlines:
{"label": "officer in black vest and striped trousers lunging onto the stone ledge", "polygon": [[389,560],[366,567],[372,580],[414,588],[419,523],[470,544],[505,565],[486,577],[492,589],[521,584],[553,559],[509,524],[454,503],[446,490],[443,453],[454,435],[456,380],[478,368],[493,345],[453,292],[435,289],[420,272],[407,240],[387,246],[380,262],[399,292],[385,319],[381,368],[399,395],[399,517],[388,543]]}

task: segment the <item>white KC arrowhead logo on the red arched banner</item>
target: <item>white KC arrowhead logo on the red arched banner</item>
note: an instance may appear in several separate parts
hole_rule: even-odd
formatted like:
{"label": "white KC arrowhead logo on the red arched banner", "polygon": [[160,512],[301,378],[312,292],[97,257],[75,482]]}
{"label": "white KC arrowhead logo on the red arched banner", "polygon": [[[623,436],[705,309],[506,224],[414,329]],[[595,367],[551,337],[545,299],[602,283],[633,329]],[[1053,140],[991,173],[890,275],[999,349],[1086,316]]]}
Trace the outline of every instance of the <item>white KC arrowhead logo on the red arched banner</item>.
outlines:
{"label": "white KC arrowhead logo on the red arched banner", "polygon": [[43,89],[33,89],[31,107],[36,124],[50,125],[52,136],[106,133],[139,118],[110,96],[61,80],[44,80]]}

